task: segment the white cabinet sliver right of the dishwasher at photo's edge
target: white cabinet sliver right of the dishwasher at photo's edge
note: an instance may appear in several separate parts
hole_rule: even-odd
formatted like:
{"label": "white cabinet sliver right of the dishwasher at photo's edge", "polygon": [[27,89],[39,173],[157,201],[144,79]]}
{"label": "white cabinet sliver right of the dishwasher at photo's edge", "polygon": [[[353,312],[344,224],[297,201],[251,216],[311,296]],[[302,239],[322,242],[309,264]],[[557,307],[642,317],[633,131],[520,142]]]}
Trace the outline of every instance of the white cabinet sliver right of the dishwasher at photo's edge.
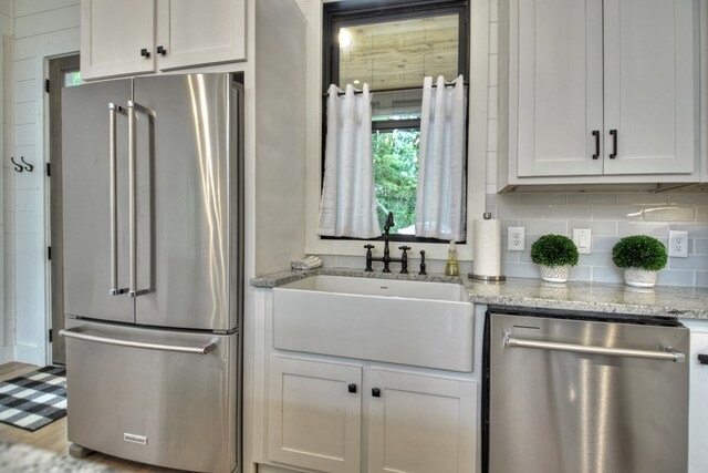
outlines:
{"label": "white cabinet sliver right of the dishwasher at photo's edge", "polygon": [[688,400],[688,472],[708,472],[708,364],[698,354],[708,356],[708,323],[690,332],[690,391]]}

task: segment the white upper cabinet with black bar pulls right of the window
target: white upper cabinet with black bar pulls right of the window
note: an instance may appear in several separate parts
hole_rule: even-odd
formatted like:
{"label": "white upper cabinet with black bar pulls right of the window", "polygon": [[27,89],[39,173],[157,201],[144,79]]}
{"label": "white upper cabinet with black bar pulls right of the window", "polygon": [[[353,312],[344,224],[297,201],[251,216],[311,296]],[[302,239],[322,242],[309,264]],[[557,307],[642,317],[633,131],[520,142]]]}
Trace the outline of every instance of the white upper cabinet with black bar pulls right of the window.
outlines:
{"label": "white upper cabinet with black bar pulls right of the window", "polygon": [[502,2],[501,187],[697,181],[695,9],[687,0]]}

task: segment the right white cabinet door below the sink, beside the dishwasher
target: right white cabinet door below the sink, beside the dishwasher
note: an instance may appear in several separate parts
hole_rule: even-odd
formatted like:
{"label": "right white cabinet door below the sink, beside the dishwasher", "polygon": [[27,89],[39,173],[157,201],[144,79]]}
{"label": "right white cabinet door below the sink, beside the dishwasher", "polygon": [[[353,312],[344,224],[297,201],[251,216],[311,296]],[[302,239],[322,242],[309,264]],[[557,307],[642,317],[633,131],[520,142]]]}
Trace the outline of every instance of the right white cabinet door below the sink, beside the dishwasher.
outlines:
{"label": "right white cabinet door below the sink, beside the dishwasher", "polygon": [[476,471],[475,383],[371,369],[366,387],[369,473]]}

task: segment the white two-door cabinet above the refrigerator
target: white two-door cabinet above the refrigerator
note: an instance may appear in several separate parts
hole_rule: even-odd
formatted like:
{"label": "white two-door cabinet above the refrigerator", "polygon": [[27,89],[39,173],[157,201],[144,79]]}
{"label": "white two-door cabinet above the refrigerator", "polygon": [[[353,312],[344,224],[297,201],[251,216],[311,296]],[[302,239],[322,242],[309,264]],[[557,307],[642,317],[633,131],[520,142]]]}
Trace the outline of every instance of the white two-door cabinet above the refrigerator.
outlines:
{"label": "white two-door cabinet above the refrigerator", "polygon": [[246,0],[82,0],[83,79],[246,59]]}

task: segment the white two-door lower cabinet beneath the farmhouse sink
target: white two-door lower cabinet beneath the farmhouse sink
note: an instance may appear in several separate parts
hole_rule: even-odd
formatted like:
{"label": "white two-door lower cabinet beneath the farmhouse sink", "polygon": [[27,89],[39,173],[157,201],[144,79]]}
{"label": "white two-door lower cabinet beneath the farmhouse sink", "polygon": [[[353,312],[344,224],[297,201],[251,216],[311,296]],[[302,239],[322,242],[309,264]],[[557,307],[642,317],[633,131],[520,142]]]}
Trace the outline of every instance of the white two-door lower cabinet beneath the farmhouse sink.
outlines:
{"label": "white two-door lower cabinet beneath the farmhouse sink", "polygon": [[271,462],[332,473],[475,471],[471,380],[272,356],[269,391]]}

